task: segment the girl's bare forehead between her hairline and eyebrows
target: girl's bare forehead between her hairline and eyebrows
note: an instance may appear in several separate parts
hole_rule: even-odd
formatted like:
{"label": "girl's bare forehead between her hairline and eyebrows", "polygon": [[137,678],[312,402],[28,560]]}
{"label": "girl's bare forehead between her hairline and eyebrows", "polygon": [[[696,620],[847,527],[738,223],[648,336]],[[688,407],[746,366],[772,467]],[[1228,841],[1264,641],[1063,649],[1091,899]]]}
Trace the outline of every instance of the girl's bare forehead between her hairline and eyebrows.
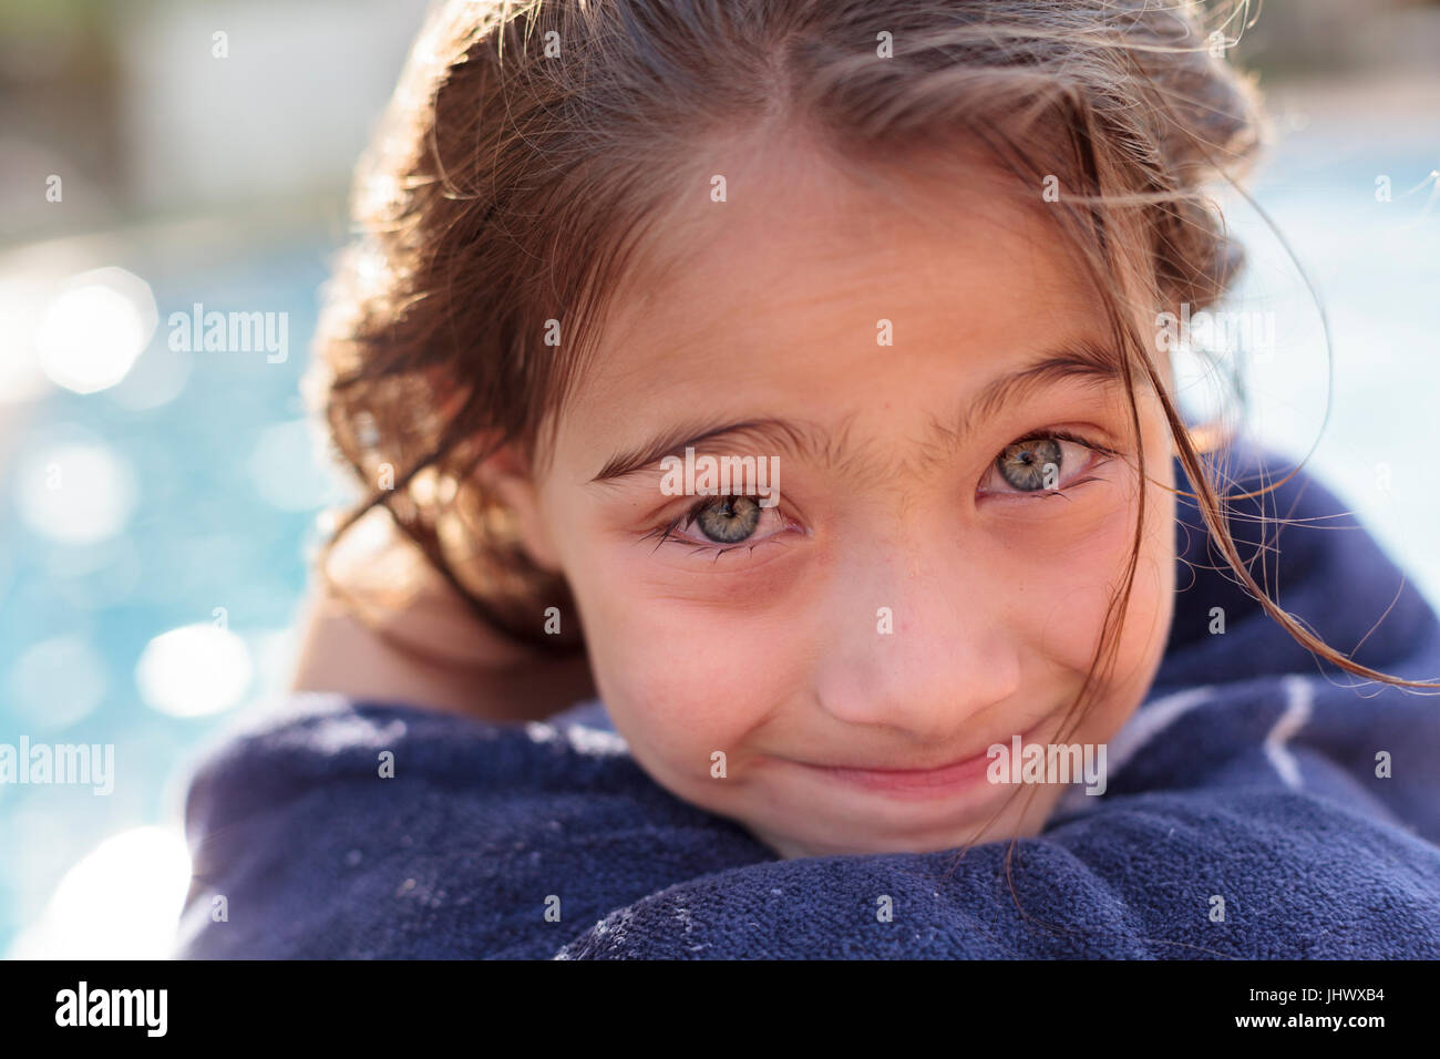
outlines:
{"label": "girl's bare forehead between her hairline and eyebrows", "polygon": [[973,153],[922,179],[717,148],[636,248],[563,432],[732,405],[838,418],[883,383],[899,398],[940,377],[955,399],[1005,362],[1094,340],[1092,282],[1031,190]]}

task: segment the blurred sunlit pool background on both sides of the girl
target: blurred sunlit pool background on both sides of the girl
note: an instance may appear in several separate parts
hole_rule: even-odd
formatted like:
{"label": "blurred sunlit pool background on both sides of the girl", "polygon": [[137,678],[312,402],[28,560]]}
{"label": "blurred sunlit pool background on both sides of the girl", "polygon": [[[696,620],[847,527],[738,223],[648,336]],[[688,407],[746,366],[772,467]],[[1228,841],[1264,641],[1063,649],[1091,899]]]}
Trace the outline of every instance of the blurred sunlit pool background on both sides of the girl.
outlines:
{"label": "blurred sunlit pool background on both sides of the girl", "polygon": [[[166,955],[186,769],[285,686],[343,499],[298,382],[425,7],[0,0],[0,743],[114,745],[118,777],[0,782],[9,957]],[[1267,0],[1231,55],[1274,122],[1259,209],[1221,196],[1251,259],[1231,308],[1264,324],[1250,431],[1315,447],[1440,601],[1440,3]],[[213,311],[255,341],[176,349],[202,329],[171,316]]]}

